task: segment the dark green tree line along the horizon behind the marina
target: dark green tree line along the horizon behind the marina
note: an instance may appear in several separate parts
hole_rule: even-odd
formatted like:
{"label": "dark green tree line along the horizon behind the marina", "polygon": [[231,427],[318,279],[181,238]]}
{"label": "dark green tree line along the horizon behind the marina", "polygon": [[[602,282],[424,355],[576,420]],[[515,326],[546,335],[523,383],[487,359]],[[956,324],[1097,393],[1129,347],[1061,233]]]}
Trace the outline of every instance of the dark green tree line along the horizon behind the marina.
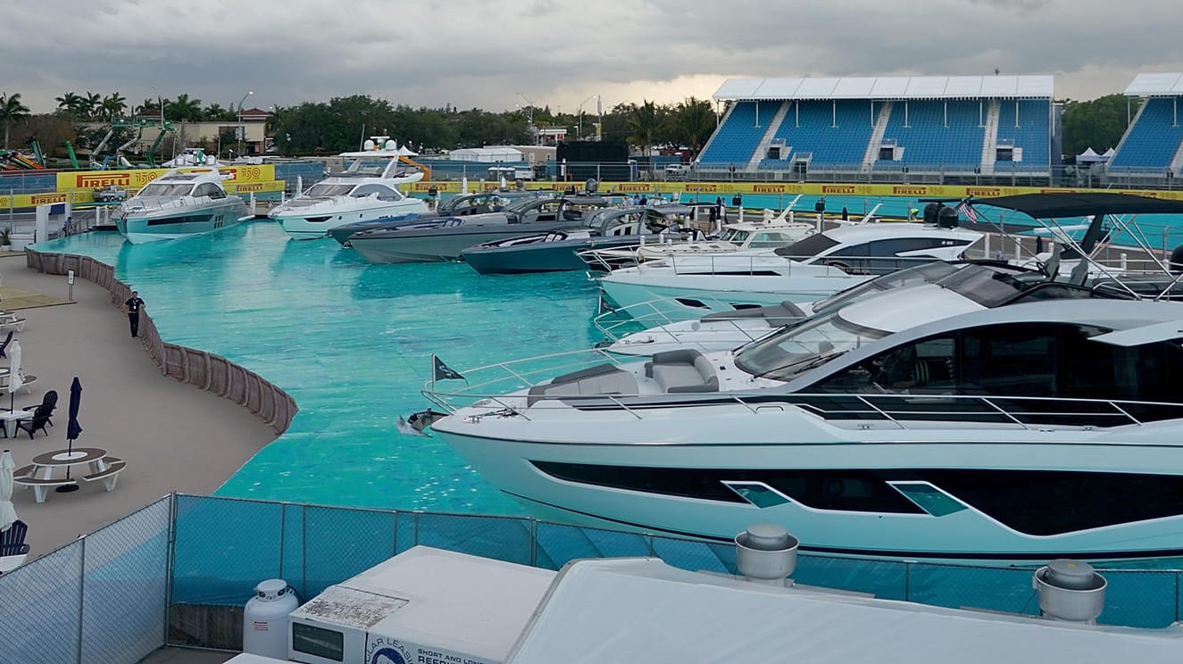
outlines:
{"label": "dark green tree line along the horizon behind the marina", "polygon": [[[46,150],[64,141],[88,148],[104,134],[85,123],[106,123],[127,116],[163,117],[170,122],[233,122],[241,109],[202,105],[189,95],[143,99],[129,104],[119,92],[101,95],[67,91],[56,98],[52,113],[33,115],[19,92],[0,96],[0,123],[5,149],[27,145],[38,137]],[[1077,155],[1086,148],[1104,151],[1117,147],[1137,112],[1137,100],[1108,95],[1090,102],[1064,100],[1064,152]],[[530,144],[537,129],[562,128],[568,139],[626,141],[647,152],[666,148],[697,157],[716,128],[710,100],[690,97],[677,104],[623,103],[605,115],[555,112],[549,106],[526,106],[493,112],[481,109],[411,108],[394,105],[369,95],[335,97],[328,102],[303,102],[276,106],[267,135],[279,154],[290,156],[336,154],[356,150],[369,136],[390,136],[420,152],[496,144]]]}

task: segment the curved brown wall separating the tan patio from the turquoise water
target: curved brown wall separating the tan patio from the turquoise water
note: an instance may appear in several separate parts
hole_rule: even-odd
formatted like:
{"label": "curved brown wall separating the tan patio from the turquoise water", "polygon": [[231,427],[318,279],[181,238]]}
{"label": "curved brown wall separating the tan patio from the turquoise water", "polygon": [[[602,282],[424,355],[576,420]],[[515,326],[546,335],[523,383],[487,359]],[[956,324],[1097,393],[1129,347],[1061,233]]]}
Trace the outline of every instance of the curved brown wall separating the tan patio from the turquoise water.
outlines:
{"label": "curved brown wall separating the tan patio from the turquoise water", "polygon": [[[111,293],[111,302],[116,306],[122,306],[122,302],[131,297],[131,288],[115,278],[115,269],[111,266],[90,256],[51,254],[30,248],[25,249],[25,256],[28,268],[38,272],[67,274],[72,269],[76,276],[106,288]],[[287,430],[299,410],[291,395],[258,373],[221,356],[164,341],[160,338],[148,312],[140,314],[140,337],[161,373],[246,408],[277,434]]]}

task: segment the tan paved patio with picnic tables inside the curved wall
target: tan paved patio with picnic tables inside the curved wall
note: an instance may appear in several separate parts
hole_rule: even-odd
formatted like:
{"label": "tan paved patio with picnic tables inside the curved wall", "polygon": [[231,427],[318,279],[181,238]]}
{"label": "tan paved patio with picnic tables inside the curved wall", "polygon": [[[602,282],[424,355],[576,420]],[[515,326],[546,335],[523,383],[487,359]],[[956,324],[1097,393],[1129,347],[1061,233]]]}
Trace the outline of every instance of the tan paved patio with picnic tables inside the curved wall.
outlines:
{"label": "tan paved patio with picnic tables inside the curved wall", "polygon": [[[39,293],[45,302],[65,301],[69,293],[65,276],[26,268],[24,255],[0,256],[0,308],[32,304],[4,299],[9,288]],[[14,337],[20,339],[21,365],[38,379],[32,395],[15,395],[15,406],[40,403],[46,390],[57,390],[59,401],[49,436],[30,440],[21,432],[2,445],[12,450],[18,468],[40,453],[65,448],[70,383],[77,376],[83,385],[83,434],[76,444],[105,449],[128,467],[110,493],[102,482],[84,482],[77,492],[50,492],[37,503],[31,489],[17,488],[13,503],[28,523],[31,558],[169,492],[212,493],[276,437],[241,406],[161,375],[105,289],[76,279],[73,299],[18,310],[27,319]],[[0,359],[0,366],[7,362]],[[6,408],[7,392],[0,397]]]}

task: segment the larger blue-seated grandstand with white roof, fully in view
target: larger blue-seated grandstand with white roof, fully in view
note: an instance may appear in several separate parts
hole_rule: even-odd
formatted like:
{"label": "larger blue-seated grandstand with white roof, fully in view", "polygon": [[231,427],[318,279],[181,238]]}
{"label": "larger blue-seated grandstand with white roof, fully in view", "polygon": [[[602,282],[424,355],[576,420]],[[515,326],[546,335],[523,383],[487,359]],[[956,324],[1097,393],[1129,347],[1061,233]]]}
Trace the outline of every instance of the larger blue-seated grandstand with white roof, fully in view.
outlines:
{"label": "larger blue-seated grandstand with white roof, fully in view", "polygon": [[703,174],[1046,184],[1060,162],[1049,76],[729,79],[713,98]]}

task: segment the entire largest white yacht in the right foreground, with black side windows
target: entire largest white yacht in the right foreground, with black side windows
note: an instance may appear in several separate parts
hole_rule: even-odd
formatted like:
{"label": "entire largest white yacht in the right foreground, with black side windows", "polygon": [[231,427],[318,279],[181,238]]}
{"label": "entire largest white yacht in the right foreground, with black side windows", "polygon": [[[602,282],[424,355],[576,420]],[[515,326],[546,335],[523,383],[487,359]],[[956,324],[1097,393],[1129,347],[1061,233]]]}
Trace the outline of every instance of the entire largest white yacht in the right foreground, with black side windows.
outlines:
{"label": "entire largest white yacht in the right foreground, with black side windows", "polygon": [[891,291],[735,352],[603,353],[534,386],[505,366],[525,385],[476,403],[439,380],[432,429],[544,519],[718,541],[778,523],[892,559],[1183,554],[1183,307],[1033,295],[933,319],[951,300],[925,288],[949,297]]}

